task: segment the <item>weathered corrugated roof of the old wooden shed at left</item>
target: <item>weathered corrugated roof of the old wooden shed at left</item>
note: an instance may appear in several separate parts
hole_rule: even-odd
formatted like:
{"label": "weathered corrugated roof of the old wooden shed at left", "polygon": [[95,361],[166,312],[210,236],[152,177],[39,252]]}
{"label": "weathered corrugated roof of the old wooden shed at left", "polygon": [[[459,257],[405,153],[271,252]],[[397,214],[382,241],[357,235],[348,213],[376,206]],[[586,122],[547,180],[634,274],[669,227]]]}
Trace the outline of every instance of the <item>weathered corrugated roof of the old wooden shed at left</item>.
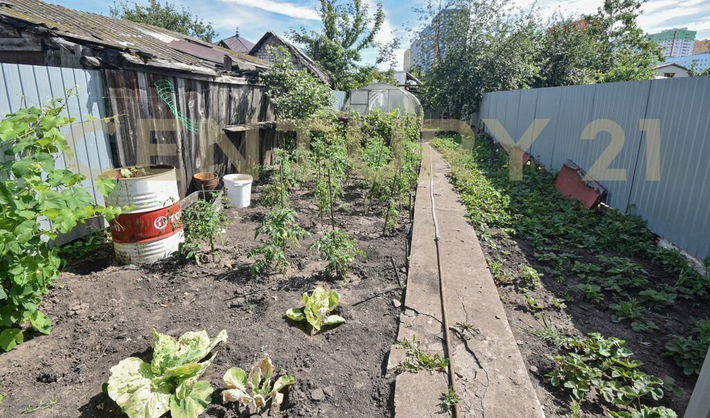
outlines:
{"label": "weathered corrugated roof of the old wooden shed at left", "polygon": [[48,28],[61,38],[138,53],[141,57],[209,67],[214,70],[221,68],[224,55],[229,55],[237,65],[241,62],[244,67],[268,67],[266,62],[251,55],[227,50],[182,33],[143,23],[109,18],[96,13],[67,9],[38,0],[1,1],[0,18],[3,16]]}

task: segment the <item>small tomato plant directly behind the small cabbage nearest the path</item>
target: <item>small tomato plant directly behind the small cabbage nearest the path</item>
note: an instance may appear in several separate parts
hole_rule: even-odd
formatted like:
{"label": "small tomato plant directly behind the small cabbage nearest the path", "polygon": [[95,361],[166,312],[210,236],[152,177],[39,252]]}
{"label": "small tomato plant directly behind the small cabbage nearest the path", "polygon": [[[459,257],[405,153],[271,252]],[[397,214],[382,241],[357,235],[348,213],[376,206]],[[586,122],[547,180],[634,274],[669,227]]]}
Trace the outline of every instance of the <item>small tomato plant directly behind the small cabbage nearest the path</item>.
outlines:
{"label": "small tomato plant directly behind the small cabbage nearest the path", "polygon": [[313,241],[308,249],[315,249],[320,253],[322,260],[328,262],[325,267],[327,274],[335,273],[335,276],[342,280],[347,278],[350,265],[356,257],[366,257],[357,241],[339,229],[323,233],[323,236]]}

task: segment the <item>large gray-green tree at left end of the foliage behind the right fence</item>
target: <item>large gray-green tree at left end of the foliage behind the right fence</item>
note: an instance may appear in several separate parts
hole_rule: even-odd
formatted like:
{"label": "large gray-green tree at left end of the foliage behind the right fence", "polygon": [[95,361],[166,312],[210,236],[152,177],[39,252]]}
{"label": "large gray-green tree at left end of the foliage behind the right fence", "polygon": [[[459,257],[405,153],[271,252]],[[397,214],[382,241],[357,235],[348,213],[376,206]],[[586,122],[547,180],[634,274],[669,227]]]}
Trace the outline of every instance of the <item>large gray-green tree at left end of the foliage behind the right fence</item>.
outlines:
{"label": "large gray-green tree at left end of the foliage behind the right fence", "polygon": [[449,0],[430,3],[422,33],[425,69],[422,102],[452,117],[478,110],[485,92],[522,89],[537,77],[536,16],[514,12],[512,0]]}

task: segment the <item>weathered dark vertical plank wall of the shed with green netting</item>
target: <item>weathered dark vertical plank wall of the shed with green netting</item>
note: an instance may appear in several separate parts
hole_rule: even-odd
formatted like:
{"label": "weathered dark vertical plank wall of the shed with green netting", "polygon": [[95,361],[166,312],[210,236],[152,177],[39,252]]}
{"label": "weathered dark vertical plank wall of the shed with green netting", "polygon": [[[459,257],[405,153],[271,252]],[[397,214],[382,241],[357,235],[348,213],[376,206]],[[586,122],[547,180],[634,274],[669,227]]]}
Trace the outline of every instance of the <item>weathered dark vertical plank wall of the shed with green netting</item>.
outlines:
{"label": "weathered dark vertical plank wall of the shed with green netting", "polygon": [[[200,131],[187,129],[158,97],[155,82],[163,79],[173,83],[173,100],[180,114],[201,123]],[[224,139],[220,136],[224,126],[275,120],[264,88],[258,84],[227,84],[131,70],[104,70],[104,83],[107,114],[121,115],[111,136],[114,165],[146,164],[148,158],[153,164],[175,165],[182,195],[190,189],[192,175],[197,172],[222,176],[249,170],[244,163],[230,161],[222,148],[214,145]],[[228,136],[245,156],[247,135]],[[261,130],[258,140],[254,138],[258,141],[258,163],[271,163],[277,136],[275,130]],[[139,143],[139,137],[150,138],[150,144]],[[208,153],[212,153],[211,158]],[[212,167],[210,160],[214,162]]]}

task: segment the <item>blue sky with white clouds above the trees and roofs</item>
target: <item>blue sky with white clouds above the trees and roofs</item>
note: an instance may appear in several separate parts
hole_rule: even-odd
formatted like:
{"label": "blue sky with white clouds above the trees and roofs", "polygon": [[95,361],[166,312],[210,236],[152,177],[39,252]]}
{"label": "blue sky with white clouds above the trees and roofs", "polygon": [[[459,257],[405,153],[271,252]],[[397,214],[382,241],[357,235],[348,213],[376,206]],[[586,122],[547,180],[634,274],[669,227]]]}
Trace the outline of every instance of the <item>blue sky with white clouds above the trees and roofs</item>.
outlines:
{"label": "blue sky with white clouds above the trees and roofs", "polygon": [[[109,6],[114,0],[45,0],[70,9],[109,14]],[[130,0],[145,4],[147,0]],[[163,1],[163,0],[161,0]],[[318,1],[313,0],[170,0],[190,9],[209,23],[218,33],[218,39],[239,34],[256,43],[266,31],[284,35],[290,29],[300,27],[319,28],[320,19],[316,13]],[[342,0],[344,1],[344,0]],[[515,0],[521,9],[529,10],[534,0]],[[364,0],[371,10],[376,0]],[[377,40],[386,42],[394,35],[402,40],[402,49],[397,51],[398,69],[402,68],[403,53],[412,38],[413,31],[420,26],[420,8],[425,0],[401,1],[382,0],[386,20]],[[555,11],[565,16],[579,16],[594,13],[603,0],[537,0],[537,7],[543,18]],[[668,28],[687,27],[697,31],[696,39],[710,38],[710,0],[650,0],[643,6],[643,14],[638,22],[648,33],[660,32]],[[216,40],[215,40],[216,41]],[[372,62],[375,50],[363,54],[364,62]]]}

